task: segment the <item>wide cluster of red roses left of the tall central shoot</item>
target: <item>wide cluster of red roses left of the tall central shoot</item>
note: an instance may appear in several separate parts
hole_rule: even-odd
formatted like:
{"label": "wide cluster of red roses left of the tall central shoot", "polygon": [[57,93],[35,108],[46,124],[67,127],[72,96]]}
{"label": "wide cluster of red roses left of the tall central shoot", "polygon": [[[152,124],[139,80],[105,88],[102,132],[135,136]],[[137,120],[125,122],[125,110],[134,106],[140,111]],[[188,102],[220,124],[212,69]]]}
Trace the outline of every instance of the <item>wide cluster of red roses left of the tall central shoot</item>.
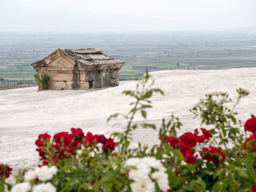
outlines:
{"label": "wide cluster of red roses left of the tall central shoot", "polygon": [[[50,151],[55,152],[54,162],[58,162],[59,159],[64,159],[68,153],[73,154],[74,150],[81,149],[82,144],[91,147],[100,142],[103,144],[102,149],[105,153],[115,149],[113,139],[106,139],[104,135],[92,135],[92,133],[88,132],[86,136],[84,136],[80,128],[72,128],[71,132],[71,134],[68,132],[60,132],[54,135],[53,147],[49,148]],[[39,156],[44,160],[43,164],[48,164],[44,144],[49,143],[50,139],[51,136],[45,133],[40,134],[36,140],[36,145],[38,146],[36,150],[39,152]]]}

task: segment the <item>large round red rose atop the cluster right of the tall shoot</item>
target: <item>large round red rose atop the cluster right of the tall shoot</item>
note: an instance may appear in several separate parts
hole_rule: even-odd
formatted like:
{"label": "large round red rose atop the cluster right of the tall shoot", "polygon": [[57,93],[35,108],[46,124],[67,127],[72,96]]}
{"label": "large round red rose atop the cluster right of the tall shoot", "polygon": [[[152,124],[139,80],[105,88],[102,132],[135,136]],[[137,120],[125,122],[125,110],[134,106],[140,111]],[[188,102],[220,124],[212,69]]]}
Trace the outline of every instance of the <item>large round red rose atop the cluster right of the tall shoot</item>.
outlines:
{"label": "large round red rose atop the cluster right of the tall shoot", "polygon": [[197,136],[190,132],[183,134],[179,137],[179,139],[181,140],[179,142],[179,150],[181,150],[182,152],[186,151],[191,147],[195,147],[195,145],[197,144]]}

